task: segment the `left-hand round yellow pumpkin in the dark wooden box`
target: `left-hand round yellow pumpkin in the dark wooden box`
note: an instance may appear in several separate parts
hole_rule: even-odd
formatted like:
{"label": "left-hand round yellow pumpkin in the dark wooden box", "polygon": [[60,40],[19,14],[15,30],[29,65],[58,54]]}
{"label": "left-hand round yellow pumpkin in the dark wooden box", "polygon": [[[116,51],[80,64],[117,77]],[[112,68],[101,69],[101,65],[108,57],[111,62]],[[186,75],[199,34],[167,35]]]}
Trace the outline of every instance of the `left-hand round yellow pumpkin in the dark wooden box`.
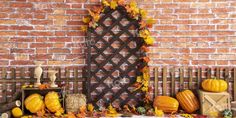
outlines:
{"label": "left-hand round yellow pumpkin in the dark wooden box", "polygon": [[28,96],[24,104],[25,108],[31,113],[36,113],[44,109],[43,97],[37,93]]}

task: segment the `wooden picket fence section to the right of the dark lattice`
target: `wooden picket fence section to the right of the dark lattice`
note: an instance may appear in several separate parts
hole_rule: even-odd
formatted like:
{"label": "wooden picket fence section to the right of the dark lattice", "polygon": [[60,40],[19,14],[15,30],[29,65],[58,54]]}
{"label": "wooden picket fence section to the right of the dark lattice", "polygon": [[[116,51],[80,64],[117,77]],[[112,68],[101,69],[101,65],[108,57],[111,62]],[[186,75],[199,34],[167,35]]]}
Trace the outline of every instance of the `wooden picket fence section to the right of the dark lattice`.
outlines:
{"label": "wooden picket fence section to the right of the dark lattice", "polygon": [[236,68],[230,67],[180,67],[180,68],[154,68],[154,95],[175,94],[183,89],[201,89],[201,82],[206,78],[223,79],[228,83],[228,92],[231,99],[236,100]]}

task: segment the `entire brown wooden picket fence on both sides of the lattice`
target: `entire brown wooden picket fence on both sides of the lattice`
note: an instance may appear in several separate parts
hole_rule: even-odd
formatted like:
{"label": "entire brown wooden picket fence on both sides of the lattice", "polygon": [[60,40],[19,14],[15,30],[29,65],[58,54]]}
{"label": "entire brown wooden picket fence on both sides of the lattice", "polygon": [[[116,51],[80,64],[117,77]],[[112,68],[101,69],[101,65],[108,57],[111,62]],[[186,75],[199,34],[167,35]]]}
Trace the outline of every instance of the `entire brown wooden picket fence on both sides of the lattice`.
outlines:
{"label": "entire brown wooden picket fence on both sides of the lattice", "polygon": [[[41,82],[49,82],[47,70],[58,70],[57,84],[66,87],[67,93],[78,93],[82,91],[83,78],[82,68],[79,67],[43,67],[43,75]],[[229,87],[228,92],[231,99],[236,100],[236,68],[232,67],[154,67],[152,84],[154,84],[154,94],[169,95],[175,94],[183,89],[198,90],[201,88],[201,81],[206,78],[220,78],[227,81]],[[24,84],[33,84],[34,68],[0,68],[0,103],[4,103],[7,99],[21,89]]]}

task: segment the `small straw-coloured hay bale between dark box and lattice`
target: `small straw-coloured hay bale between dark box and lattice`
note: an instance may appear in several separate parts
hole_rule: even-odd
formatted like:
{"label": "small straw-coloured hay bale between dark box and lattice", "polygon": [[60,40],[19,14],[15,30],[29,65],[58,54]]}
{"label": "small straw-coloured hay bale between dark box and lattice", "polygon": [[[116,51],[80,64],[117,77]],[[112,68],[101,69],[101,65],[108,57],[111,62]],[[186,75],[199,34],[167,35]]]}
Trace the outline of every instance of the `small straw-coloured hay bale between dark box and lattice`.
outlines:
{"label": "small straw-coloured hay bale between dark box and lattice", "polygon": [[66,112],[77,113],[79,108],[86,105],[84,94],[67,94],[65,99]]}

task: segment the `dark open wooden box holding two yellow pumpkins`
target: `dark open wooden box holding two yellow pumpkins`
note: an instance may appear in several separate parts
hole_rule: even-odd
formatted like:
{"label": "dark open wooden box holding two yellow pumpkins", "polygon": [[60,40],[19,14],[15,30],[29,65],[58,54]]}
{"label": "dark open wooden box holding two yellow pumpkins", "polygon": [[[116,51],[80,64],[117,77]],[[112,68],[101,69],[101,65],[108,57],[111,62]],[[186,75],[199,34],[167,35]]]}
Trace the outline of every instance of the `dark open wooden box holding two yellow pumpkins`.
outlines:
{"label": "dark open wooden box holding two yellow pumpkins", "polygon": [[61,104],[62,104],[62,107],[64,108],[64,96],[62,94],[63,93],[62,88],[59,88],[59,87],[58,88],[48,88],[48,89],[43,89],[43,90],[40,90],[39,88],[23,88],[22,89],[22,111],[23,111],[23,113],[30,114],[30,112],[28,110],[26,110],[25,105],[24,105],[24,100],[29,95],[34,94],[34,93],[38,93],[42,96],[45,96],[50,91],[55,91],[55,92],[59,93],[59,95],[62,98]]}

